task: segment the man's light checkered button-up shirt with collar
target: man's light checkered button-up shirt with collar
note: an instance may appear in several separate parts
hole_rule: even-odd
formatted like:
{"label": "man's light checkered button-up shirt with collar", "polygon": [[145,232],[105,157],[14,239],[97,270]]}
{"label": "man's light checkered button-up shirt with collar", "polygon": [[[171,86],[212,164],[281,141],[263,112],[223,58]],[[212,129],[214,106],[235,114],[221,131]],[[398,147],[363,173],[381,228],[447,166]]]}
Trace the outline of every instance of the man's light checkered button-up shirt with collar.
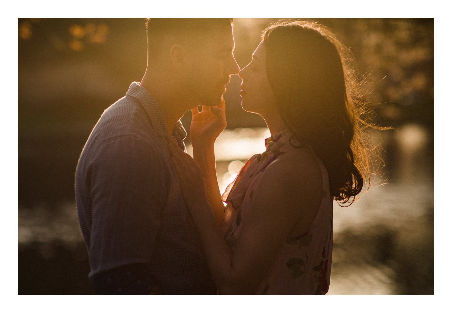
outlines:
{"label": "man's light checkered button-up shirt with collar", "polygon": [[[180,120],[173,135],[185,150]],[[133,82],[108,107],[83,148],[75,173],[80,227],[92,277],[118,266],[149,263],[170,294],[214,294],[201,243],[170,164],[162,111]]]}

